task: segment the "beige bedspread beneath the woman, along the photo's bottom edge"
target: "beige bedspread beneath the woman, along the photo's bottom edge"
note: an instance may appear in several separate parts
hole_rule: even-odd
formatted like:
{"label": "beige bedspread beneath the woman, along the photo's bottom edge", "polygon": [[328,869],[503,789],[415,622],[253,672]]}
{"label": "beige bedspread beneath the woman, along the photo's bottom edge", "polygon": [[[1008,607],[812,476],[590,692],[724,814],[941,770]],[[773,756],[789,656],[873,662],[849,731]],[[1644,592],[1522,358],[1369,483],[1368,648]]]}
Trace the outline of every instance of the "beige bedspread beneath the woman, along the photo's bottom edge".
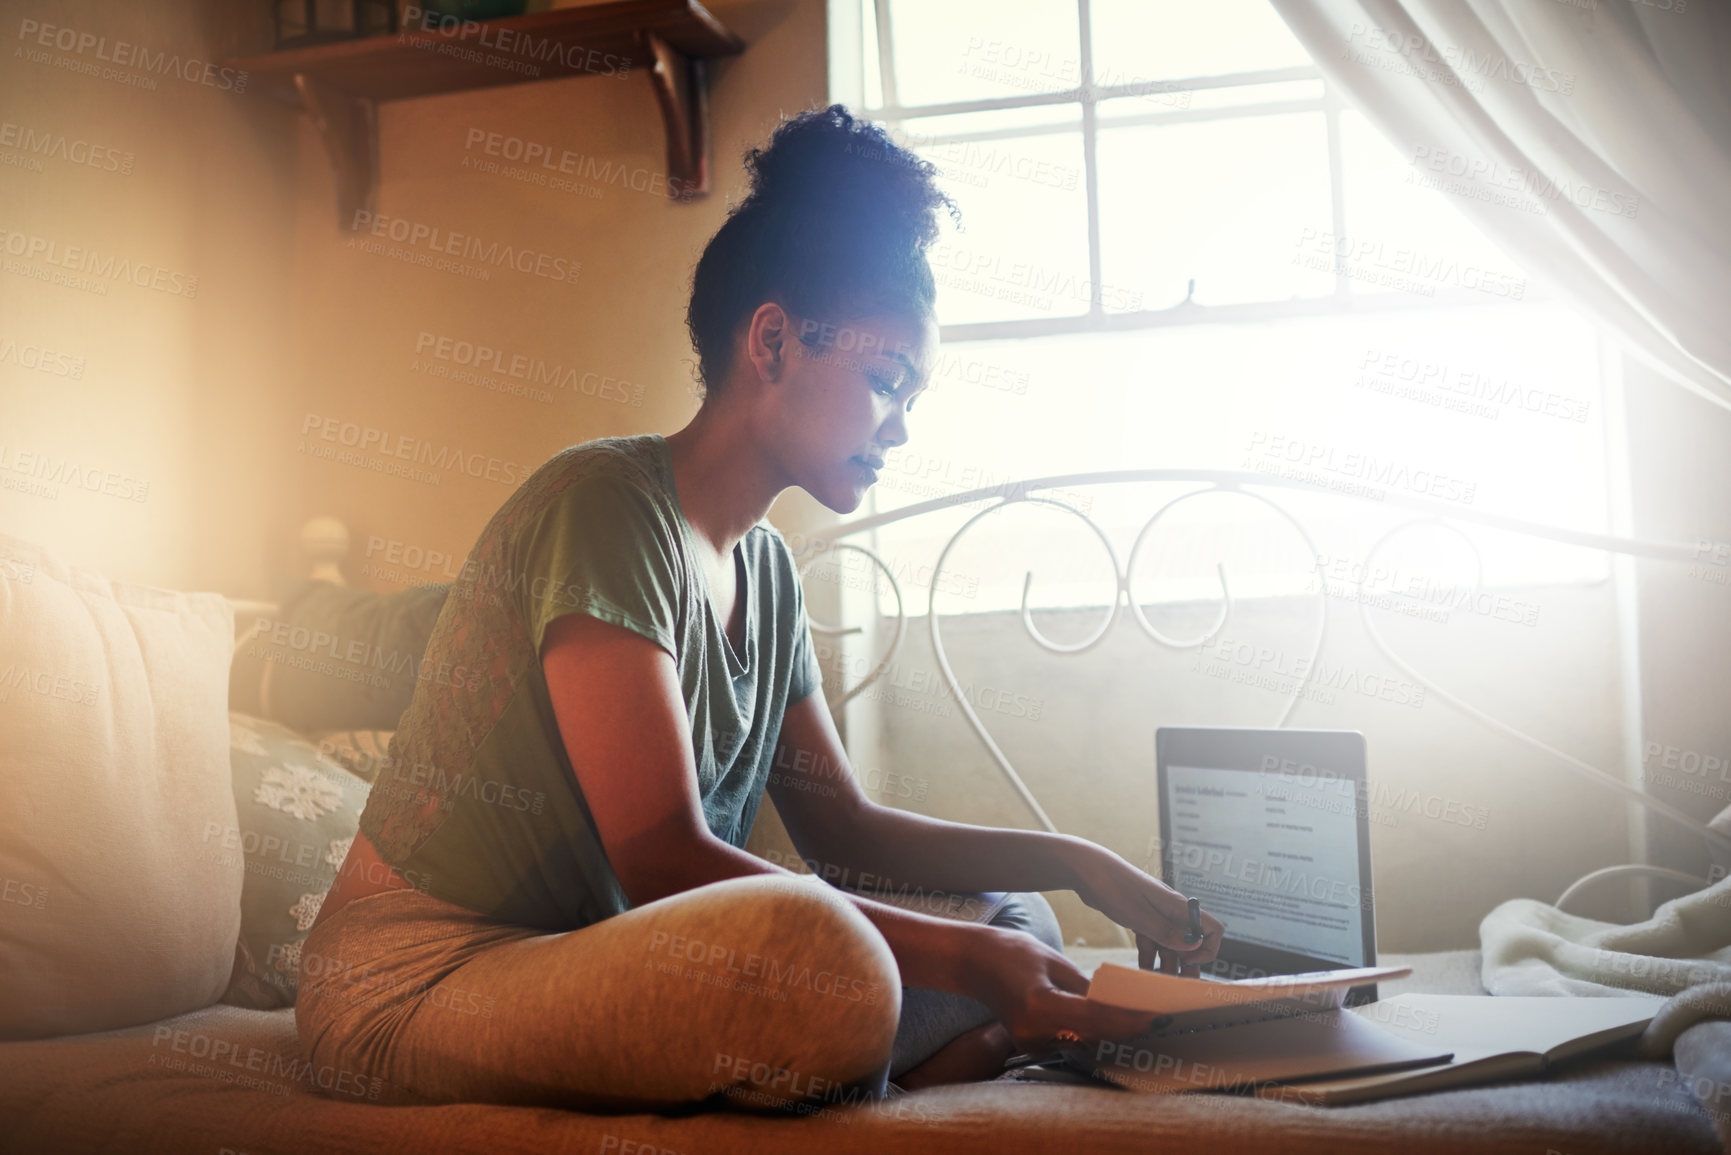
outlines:
{"label": "beige bedspread beneath the woman, along the photo's bottom edge", "polygon": [[[1392,956],[1416,966],[1400,989],[1477,992],[1475,951]],[[203,1051],[203,1058],[196,1055]],[[111,1036],[0,1044],[0,1150],[218,1155],[306,1152],[1497,1152],[1568,1155],[1719,1152],[1669,1065],[1598,1061],[1551,1079],[1342,1108],[1238,1094],[1146,1096],[985,1082],[933,1087],[826,1119],[708,1113],[585,1115],[511,1107],[376,1107],[320,1098],[293,1065],[291,1011],[208,1008]],[[251,1067],[251,1070],[249,1070]],[[1667,1084],[1667,1075],[1670,1082]],[[253,1086],[242,1086],[249,1081]],[[647,1145],[647,1146],[637,1146]]]}

